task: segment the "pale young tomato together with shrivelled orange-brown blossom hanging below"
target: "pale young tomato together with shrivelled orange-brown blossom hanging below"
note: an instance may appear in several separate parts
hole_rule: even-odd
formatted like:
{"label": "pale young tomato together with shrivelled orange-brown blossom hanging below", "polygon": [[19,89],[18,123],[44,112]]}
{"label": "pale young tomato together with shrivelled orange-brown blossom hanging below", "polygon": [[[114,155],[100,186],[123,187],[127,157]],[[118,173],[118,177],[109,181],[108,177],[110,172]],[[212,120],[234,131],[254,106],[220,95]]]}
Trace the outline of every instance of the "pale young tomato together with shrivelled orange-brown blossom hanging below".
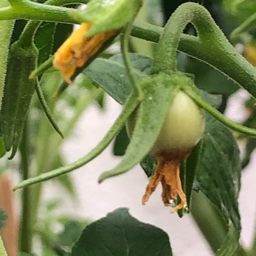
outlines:
{"label": "pale young tomato together with shrivelled orange-brown blossom hanging below", "polygon": [[[132,136],[136,125],[135,111],[127,122],[127,131]],[[150,177],[142,203],[149,199],[159,182],[162,184],[162,201],[166,206],[177,198],[181,203],[173,211],[186,204],[186,195],[180,180],[180,165],[200,141],[205,127],[204,113],[183,91],[179,91],[170,105],[161,131],[149,154],[157,159],[154,175]]]}

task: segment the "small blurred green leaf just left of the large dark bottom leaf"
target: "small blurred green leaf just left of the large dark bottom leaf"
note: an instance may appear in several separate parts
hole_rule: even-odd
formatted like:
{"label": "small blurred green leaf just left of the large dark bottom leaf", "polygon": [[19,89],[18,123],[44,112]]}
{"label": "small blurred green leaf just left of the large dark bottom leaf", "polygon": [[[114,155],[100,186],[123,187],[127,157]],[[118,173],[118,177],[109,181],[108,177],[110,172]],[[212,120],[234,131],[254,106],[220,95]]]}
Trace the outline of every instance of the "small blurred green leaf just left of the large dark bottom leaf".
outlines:
{"label": "small blurred green leaf just left of the large dark bottom leaf", "polygon": [[64,230],[59,233],[59,241],[62,246],[70,246],[75,243],[82,234],[84,227],[79,222],[69,221],[65,224]]}

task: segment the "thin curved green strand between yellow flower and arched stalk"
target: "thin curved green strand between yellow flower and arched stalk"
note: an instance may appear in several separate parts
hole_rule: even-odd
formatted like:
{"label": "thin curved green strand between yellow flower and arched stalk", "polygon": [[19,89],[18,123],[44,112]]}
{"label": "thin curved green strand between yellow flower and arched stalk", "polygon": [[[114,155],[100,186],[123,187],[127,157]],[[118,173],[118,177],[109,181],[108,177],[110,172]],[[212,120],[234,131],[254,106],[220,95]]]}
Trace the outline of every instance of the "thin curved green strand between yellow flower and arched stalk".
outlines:
{"label": "thin curved green strand between yellow flower and arched stalk", "polygon": [[128,53],[128,49],[129,49],[129,36],[132,30],[132,21],[131,20],[128,25],[125,28],[124,34],[122,35],[121,38],[121,50],[122,50],[122,54],[123,54],[123,58],[124,58],[124,63],[125,63],[125,67],[127,70],[127,73],[130,77],[130,80],[132,82],[132,84],[134,85],[135,89],[137,90],[138,93],[138,100],[141,101],[143,98],[143,91],[142,88],[138,82],[138,79],[136,77],[136,75],[134,74],[130,59],[129,59],[129,53]]}

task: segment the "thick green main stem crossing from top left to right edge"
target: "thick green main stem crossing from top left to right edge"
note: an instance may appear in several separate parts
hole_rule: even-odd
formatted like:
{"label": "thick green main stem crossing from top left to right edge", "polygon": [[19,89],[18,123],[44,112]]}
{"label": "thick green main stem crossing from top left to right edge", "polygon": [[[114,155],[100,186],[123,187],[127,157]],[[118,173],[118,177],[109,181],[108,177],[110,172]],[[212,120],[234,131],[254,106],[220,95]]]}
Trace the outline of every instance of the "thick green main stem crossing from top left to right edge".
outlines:
{"label": "thick green main stem crossing from top left to right edge", "polygon": [[[53,1],[53,0],[52,0]],[[195,3],[186,3],[195,4]],[[42,15],[44,9],[43,4],[33,3],[30,9],[35,9],[32,13],[24,11],[24,8],[19,8],[13,11],[12,8],[0,9],[0,20],[2,19],[14,19],[14,18],[27,18],[36,20],[48,20],[52,22],[63,22],[75,24],[78,21],[68,16],[68,9],[58,7],[56,13],[56,6],[46,6],[47,12]],[[201,8],[203,8],[201,6]],[[29,9],[29,10],[30,10]],[[205,16],[205,15],[204,15]],[[208,15],[206,24],[211,24],[211,28],[214,30],[215,36],[205,33],[204,41],[199,40],[198,37],[191,35],[181,35],[178,50],[188,54],[189,56],[199,59],[210,66],[218,69],[225,75],[232,79],[235,83],[245,88],[249,93],[256,98],[256,72],[248,61],[246,61],[234,47],[225,38],[221,29],[214,23],[213,19]],[[203,24],[205,27],[206,24]],[[208,31],[208,30],[207,30]],[[149,25],[146,23],[136,23],[131,31],[131,35],[145,39],[152,42],[158,42],[160,35],[163,33],[163,29]],[[202,33],[201,33],[201,37]],[[208,39],[207,39],[208,38]]]}

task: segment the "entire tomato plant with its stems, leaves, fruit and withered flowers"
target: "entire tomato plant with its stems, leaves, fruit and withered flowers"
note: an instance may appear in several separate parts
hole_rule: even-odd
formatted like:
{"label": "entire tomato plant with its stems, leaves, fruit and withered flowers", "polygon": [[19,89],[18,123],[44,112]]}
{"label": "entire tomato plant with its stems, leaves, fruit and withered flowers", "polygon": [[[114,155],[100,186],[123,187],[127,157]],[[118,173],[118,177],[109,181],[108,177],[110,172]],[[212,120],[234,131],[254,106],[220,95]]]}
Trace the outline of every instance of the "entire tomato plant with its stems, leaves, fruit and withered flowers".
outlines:
{"label": "entire tomato plant with its stems, leaves, fruit and withered flowers", "polygon": [[[42,255],[173,255],[167,233],[139,222],[127,208],[89,223],[55,217],[58,203],[49,202],[40,217],[44,182],[53,179],[75,200],[69,173],[112,141],[114,155],[123,158],[103,170],[99,183],[140,164],[149,178],[142,204],[161,183],[164,206],[180,217],[192,212],[215,255],[255,255],[255,245],[246,250],[239,242],[238,196],[242,169],[256,147],[256,5],[251,0],[211,0],[205,7],[170,2],[1,0],[0,228],[4,222],[6,227],[0,256],[6,255],[4,246],[10,256],[39,255],[33,250],[35,236]],[[138,18],[146,8],[149,23]],[[80,27],[73,29],[74,24]],[[113,53],[109,49],[116,43],[119,52]],[[243,52],[234,47],[239,45]],[[238,88],[251,95],[243,124],[224,115]],[[98,145],[66,164],[63,138],[90,103],[104,107],[106,94],[122,112]],[[245,141],[242,160],[238,140]],[[13,191],[4,174],[10,168],[21,176]],[[3,203],[12,205],[18,189],[19,225],[12,207]],[[199,204],[205,205],[202,212],[196,210]],[[213,221],[215,229],[207,229]]]}

